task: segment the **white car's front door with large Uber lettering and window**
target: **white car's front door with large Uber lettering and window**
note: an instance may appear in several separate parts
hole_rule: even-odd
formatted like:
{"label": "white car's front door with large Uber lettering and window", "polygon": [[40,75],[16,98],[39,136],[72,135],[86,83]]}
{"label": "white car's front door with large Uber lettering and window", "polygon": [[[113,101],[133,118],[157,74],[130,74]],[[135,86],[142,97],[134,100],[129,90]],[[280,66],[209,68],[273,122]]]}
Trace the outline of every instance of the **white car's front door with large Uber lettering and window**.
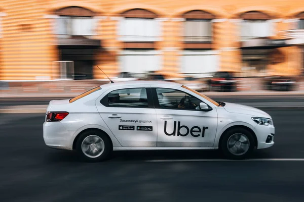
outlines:
{"label": "white car's front door with large Uber lettering and window", "polygon": [[199,105],[204,99],[180,89],[153,88],[153,93],[157,97],[157,146],[213,146],[217,128],[215,108],[201,111]]}

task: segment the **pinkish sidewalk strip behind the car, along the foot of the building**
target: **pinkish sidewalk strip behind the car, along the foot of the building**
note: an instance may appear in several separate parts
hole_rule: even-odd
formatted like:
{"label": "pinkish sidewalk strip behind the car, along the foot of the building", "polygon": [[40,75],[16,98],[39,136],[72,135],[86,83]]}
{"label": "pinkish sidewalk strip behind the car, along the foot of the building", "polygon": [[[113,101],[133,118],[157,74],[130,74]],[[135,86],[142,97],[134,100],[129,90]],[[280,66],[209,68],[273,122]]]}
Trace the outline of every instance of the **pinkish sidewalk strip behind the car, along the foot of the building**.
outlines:
{"label": "pinkish sidewalk strip behind the car, along the foot of the building", "polygon": [[[1,98],[13,97],[74,97],[96,86],[107,83],[106,81],[60,81],[46,82],[32,86],[18,86],[0,88]],[[261,90],[262,86],[253,79],[238,82],[236,92],[204,92],[209,96],[263,96],[263,95],[304,95],[304,82],[298,82],[295,91],[268,91]]]}

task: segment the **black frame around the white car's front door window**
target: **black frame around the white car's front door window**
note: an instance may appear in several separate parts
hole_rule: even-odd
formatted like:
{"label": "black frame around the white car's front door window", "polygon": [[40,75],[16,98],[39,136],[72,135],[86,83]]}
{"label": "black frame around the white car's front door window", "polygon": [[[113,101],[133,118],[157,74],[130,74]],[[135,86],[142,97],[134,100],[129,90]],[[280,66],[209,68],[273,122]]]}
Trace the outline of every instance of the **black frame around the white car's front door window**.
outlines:
{"label": "black frame around the white car's front door window", "polygon": [[[157,96],[157,91],[156,91],[157,88],[163,88],[163,89],[169,89],[169,90],[176,90],[176,91],[180,91],[180,92],[183,92],[183,93],[185,93],[185,94],[191,95],[191,96],[193,96],[193,97],[199,99],[199,100],[201,101],[201,103],[205,103],[205,104],[208,106],[209,110],[202,110],[202,109],[199,109],[199,110],[196,110],[196,109],[182,109],[182,108],[181,108],[181,109],[165,109],[165,108],[162,108],[162,107],[160,106],[159,99],[158,99],[158,96]],[[185,88],[185,89],[186,89],[186,88]],[[190,94],[190,93],[188,93],[188,92],[185,92],[185,91],[183,91],[183,90],[181,90],[181,89],[175,89],[175,88],[170,88],[170,87],[152,87],[151,90],[152,90],[152,95],[153,95],[153,101],[154,101],[155,109],[161,109],[161,110],[181,110],[181,111],[196,111],[196,112],[199,112],[199,111],[200,111],[200,112],[209,112],[209,111],[212,111],[212,110],[213,110],[213,108],[212,108],[210,105],[208,105],[206,102],[204,102],[202,99],[200,99],[200,98],[198,98],[197,96],[192,95],[192,94]]]}

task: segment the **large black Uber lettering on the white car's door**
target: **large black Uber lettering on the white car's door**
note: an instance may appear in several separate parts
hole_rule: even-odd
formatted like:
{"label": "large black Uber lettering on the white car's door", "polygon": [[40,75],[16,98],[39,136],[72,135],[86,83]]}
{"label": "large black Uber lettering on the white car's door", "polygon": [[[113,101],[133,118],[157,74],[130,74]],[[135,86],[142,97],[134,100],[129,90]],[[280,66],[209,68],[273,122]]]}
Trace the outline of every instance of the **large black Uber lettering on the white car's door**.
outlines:
{"label": "large black Uber lettering on the white car's door", "polygon": [[[185,128],[187,130],[187,132],[184,134],[181,134],[180,133],[181,128]],[[200,135],[202,135],[202,137],[205,137],[205,130],[207,130],[207,129],[208,129],[208,127],[205,127],[205,126],[203,126],[202,129],[199,126],[193,126],[191,129],[189,129],[187,126],[181,126],[180,121],[179,121],[177,124],[177,136],[184,137],[184,136],[187,136],[190,132],[190,134],[194,137],[199,137]],[[167,121],[165,121],[164,132],[168,136],[171,136],[171,135],[175,136],[176,135],[176,121],[174,121],[174,127],[173,127],[172,133],[167,132]],[[198,133],[198,134],[195,134],[195,133]],[[202,134],[200,134],[200,133],[202,133]]]}

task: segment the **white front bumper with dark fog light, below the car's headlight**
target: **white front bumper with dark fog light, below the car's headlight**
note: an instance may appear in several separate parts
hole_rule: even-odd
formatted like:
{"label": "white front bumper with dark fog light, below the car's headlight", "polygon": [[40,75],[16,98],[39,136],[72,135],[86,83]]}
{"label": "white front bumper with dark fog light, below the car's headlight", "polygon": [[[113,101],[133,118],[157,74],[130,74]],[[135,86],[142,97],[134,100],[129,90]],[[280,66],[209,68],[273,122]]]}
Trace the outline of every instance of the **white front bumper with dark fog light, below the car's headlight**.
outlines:
{"label": "white front bumper with dark fog light, below the car's headlight", "polygon": [[275,127],[273,125],[255,127],[257,138],[257,149],[268,148],[275,144]]}

